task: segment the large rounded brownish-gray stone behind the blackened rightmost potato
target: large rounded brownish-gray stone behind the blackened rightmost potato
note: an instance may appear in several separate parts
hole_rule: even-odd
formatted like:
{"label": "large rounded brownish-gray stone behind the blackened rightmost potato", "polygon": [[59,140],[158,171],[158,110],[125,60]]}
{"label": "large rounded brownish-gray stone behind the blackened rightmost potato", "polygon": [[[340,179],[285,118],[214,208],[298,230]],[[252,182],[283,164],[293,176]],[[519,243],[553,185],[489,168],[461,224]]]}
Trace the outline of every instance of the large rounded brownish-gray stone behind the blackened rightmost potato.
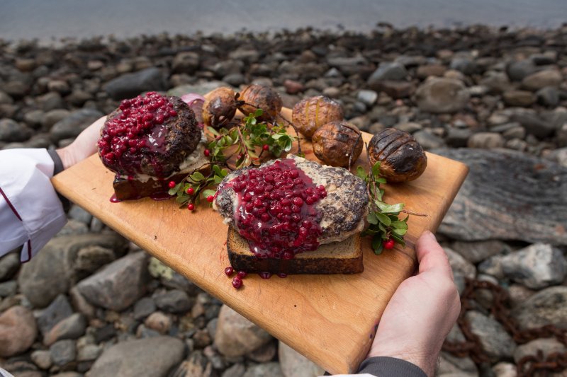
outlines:
{"label": "large rounded brownish-gray stone behind the blackened rightmost potato", "polygon": [[426,112],[457,112],[468,103],[469,93],[459,80],[433,78],[415,92],[417,106]]}

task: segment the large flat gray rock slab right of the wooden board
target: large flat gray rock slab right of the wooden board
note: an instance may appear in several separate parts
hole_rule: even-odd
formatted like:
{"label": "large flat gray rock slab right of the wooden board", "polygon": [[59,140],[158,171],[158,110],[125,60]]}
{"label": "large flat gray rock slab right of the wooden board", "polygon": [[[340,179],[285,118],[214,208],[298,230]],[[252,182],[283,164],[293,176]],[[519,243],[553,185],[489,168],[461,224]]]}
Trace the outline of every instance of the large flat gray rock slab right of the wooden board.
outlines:
{"label": "large flat gray rock slab right of the wooden board", "polygon": [[[514,151],[432,152],[463,161],[470,169],[439,233],[455,240],[567,245],[567,232],[558,226],[567,224],[567,168]],[[553,211],[548,198],[553,198]]]}

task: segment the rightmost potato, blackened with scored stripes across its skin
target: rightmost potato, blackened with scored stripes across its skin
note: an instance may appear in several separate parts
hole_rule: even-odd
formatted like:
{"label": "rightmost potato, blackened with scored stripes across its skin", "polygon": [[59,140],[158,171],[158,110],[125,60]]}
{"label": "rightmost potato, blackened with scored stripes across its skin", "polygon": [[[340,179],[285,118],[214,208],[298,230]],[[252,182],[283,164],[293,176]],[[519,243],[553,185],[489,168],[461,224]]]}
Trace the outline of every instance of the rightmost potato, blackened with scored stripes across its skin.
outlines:
{"label": "rightmost potato, blackened with scored stripes across its skin", "polygon": [[408,132],[387,128],[370,140],[370,163],[381,161],[380,173],[388,182],[417,179],[427,167],[422,146]]}

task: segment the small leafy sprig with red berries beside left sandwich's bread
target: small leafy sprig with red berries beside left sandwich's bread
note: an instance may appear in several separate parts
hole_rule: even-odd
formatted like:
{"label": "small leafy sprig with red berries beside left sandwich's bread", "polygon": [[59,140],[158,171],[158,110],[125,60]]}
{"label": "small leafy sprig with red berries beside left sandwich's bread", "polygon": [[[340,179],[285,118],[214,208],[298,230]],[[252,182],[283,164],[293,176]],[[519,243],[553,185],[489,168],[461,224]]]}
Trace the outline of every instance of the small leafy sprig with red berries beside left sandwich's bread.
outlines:
{"label": "small leafy sprig with red berries beside left sandwich's bread", "polygon": [[189,211],[193,211],[195,205],[199,204],[201,199],[205,199],[209,203],[213,202],[216,185],[227,175],[227,169],[211,164],[210,173],[206,176],[196,171],[187,175],[177,184],[174,181],[169,182],[169,195],[176,195],[175,201],[181,207],[186,206]]}

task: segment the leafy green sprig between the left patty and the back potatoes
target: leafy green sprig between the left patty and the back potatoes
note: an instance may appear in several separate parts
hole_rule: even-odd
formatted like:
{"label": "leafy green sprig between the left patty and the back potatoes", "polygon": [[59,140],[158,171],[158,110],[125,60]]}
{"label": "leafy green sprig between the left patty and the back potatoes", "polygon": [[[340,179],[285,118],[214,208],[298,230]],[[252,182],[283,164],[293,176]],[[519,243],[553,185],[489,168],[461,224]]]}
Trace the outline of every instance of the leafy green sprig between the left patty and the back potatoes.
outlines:
{"label": "leafy green sprig between the left patty and the back potatoes", "polygon": [[296,137],[289,135],[281,124],[259,121],[257,118],[261,115],[262,109],[257,109],[242,121],[230,123],[229,128],[207,127],[213,134],[208,143],[210,161],[228,166],[230,158],[236,156],[234,168],[243,168],[260,165],[264,153],[279,157],[284,151],[290,151]]}

